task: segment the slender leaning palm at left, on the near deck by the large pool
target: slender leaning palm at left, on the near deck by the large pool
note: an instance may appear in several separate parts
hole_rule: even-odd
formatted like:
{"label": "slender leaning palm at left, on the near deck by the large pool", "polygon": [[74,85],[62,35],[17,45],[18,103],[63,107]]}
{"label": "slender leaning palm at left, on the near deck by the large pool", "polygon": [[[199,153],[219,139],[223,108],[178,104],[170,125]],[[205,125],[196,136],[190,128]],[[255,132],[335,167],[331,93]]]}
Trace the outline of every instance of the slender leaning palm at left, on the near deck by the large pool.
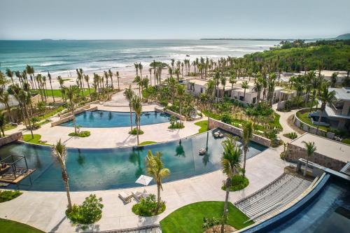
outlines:
{"label": "slender leaning palm at left, on the near deck by the large pool", "polygon": [[64,143],[61,143],[61,139],[57,141],[56,145],[52,146],[52,156],[56,158],[57,162],[59,162],[59,165],[61,165],[62,169],[62,180],[64,182],[64,188],[66,189],[66,198],[68,200],[67,205],[67,211],[71,211],[71,194],[69,192],[69,176],[68,172],[66,171],[66,146]]}

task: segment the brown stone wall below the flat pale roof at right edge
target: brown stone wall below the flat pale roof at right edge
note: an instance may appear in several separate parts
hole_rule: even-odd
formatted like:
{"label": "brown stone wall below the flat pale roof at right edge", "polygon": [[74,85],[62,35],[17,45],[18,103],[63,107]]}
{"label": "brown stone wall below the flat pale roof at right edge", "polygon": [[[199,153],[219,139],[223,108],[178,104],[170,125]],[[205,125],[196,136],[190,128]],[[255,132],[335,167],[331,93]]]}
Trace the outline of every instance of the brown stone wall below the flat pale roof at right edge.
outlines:
{"label": "brown stone wall below the flat pale roof at right edge", "polygon": [[[286,160],[288,162],[297,162],[297,160],[300,158],[305,160],[307,159],[307,152],[305,148],[300,148],[299,146],[288,143]],[[309,161],[315,162],[316,164],[320,164],[323,167],[328,167],[329,169],[333,169],[335,171],[340,171],[340,169],[342,169],[342,167],[344,167],[346,164],[346,162],[335,160],[317,152],[314,153],[314,156],[309,157]]]}

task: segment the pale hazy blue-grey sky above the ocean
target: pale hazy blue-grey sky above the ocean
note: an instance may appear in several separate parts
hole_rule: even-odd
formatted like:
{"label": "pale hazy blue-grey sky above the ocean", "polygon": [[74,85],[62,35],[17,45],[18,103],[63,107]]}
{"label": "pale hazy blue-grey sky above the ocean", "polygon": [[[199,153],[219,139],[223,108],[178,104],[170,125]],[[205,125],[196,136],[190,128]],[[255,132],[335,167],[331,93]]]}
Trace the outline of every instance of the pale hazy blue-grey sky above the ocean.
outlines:
{"label": "pale hazy blue-grey sky above the ocean", "polygon": [[349,0],[0,0],[0,39],[331,38]]}

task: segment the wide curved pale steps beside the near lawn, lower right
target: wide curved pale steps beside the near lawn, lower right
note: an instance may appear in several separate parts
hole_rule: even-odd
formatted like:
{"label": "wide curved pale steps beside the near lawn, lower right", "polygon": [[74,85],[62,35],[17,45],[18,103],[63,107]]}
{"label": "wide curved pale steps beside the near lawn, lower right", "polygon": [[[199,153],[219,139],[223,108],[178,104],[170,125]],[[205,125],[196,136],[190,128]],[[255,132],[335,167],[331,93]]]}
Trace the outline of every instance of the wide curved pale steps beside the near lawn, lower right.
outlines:
{"label": "wide curved pale steps beside the near lawn, lower right", "polygon": [[236,202],[235,206],[257,223],[293,202],[310,185],[311,181],[282,174],[261,190]]}

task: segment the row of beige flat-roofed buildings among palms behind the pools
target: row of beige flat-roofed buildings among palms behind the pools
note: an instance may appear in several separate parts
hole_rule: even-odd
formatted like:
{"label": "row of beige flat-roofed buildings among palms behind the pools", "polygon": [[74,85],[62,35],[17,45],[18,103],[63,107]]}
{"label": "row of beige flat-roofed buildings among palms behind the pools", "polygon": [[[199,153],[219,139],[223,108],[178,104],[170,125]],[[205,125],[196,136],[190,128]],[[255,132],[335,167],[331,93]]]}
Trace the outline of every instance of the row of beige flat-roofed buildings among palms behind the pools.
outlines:
{"label": "row of beige flat-roofed buildings among palms behind the pools", "polygon": [[[248,79],[246,79],[248,81]],[[248,88],[244,90],[244,88],[241,87],[241,84],[244,82],[244,80],[237,80],[237,83],[231,84],[227,83],[225,85],[225,90],[223,88],[223,85],[218,85],[219,88],[219,99],[222,99],[224,96],[230,97],[231,99],[237,99],[239,101],[242,101],[246,104],[256,104],[258,101],[258,92],[255,90],[255,85],[252,81],[248,81]],[[195,96],[198,96],[205,92],[207,88],[207,80],[201,80],[201,79],[191,79],[188,80],[187,83],[187,90],[188,92],[192,93]],[[224,93],[225,92],[225,93]],[[294,92],[285,92],[283,87],[275,87],[274,88],[274,103],[277,101],[287,100],[292,97]],[[265,99],[263,98],[263,93],[260,93],[260,100],[266,100],[267,99],[267,91],[265,94]]]}

